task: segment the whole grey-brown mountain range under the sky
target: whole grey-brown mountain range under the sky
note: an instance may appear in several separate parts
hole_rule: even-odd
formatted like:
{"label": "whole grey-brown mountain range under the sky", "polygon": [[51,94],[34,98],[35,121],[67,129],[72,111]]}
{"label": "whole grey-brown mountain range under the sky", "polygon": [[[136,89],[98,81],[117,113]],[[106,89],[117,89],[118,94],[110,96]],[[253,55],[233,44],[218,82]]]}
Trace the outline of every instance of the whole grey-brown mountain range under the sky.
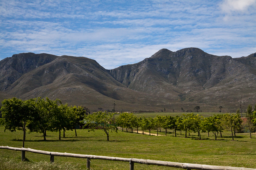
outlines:
{"label": "whole grey-brown mountain range under the sky", "polygon": [[21,53],[0,61],[0,100],[49,97],[92,111],[236,111],[256,104],[256,53],[232,58],[199,48],[161,49],[107,70],[85,57]]}

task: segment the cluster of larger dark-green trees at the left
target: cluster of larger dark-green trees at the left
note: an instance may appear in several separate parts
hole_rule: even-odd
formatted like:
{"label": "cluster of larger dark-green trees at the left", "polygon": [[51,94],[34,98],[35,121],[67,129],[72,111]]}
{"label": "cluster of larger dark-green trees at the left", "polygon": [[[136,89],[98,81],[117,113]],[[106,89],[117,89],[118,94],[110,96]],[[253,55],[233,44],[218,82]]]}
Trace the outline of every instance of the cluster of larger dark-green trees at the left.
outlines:
{"label": "cluster of larger dark-green trees at the left", "polygon": [[[85,115],[89,112],[83,107],[68,106],[62,104],[59,99],[34,98],[21,100],[17,98],[5,99],[2,101],[2,118],[0,124],[5,126],[4,131],[23,130],[23,147],[26,138],[26,129],[29,132],[43,133],[46,140],[46,130],[60,131],[75,129]],[[75,129],[76,130],[76,129]]]}

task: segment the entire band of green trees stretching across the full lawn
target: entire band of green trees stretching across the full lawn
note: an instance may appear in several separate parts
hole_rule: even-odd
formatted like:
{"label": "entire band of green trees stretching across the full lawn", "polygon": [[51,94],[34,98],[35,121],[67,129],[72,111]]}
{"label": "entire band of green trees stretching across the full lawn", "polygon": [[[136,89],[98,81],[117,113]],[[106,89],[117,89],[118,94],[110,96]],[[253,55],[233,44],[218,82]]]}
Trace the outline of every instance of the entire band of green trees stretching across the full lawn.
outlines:
{"label": "entire band of green trees stretching across the full lawn", "polygon": [[[256,110],[256,105],[254,110]],[[30,132],[43,133],[44,140],[46,140],[46,131],[60,131],[63,130],[63,137],[65,137],[66,130],[75,129],[76,125],[83,126],[88,129],[102,129],[107,134],[109,140],[109,131],[116,131],[117,127],[127,129],[152,129],[161,131],[165,129],[172,129],[173,132],[185,131],[197,132],[201,139],[200,132],[212,132],[217,140],[218,134],[222,131],[230,131],[232,138],[236,137],[236,131],[240,131],[243,127],[253,132],[256,128],[256,111],[253,111],[252,106],[249,105],[244,121],[240,118],[239,111],[237,114],[213,115],[204,118],[201,115],[182,114],[181,116],[159,116],[155,118],[137,117],[133,113],[121,113],[116,120],[112,117],[116,113],[95,112],[90,114],[87,108],[72,107],[68,104],[62,104],[60,100],[50,100],[48,98],[34,98],[29,100],[20,100],[17,98],[5,99],[2,101],[2,118],[0,124],[4,124],[4,130],[16,131],[23,130],[23,147],[26,137],[26,129]],[[76,130],[76,129],[75,129]]]}

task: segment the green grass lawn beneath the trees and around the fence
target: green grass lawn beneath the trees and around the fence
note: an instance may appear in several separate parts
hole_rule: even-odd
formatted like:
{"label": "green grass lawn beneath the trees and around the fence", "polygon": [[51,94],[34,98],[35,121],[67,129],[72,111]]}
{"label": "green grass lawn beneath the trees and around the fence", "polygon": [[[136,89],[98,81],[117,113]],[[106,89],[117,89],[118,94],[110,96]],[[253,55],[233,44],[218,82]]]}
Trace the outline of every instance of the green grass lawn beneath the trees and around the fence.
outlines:
{"label": "green grass lawn beneath the trees and around the fence", "polygon": [[[161,132],[160,134],[164,135],[165,133]],[[252,139],[249,138],[248,133],[237,133],[235,141],[231,141],[232,136],[229,132],[223,133],[222,138],[218,136],[217,141],[214,140],[212,133],[210,133],[209,138],[207,133],[202,133],[203,140],[199,140],[197,134],[194,133],[190,133],[191,136],[185,138],[184,132],[182,132],[182,135],[174,137],[171,131],[168,131],[167,136],[149,136],[131,133],[130,130],[128,133],[119,130],[118,133],[110,133],[109,142],[107,142],[107,136],[102,130],[88,132],[87,129],[78,129],[78,137],[75,137],[75,131],[66,131],[65,135],[66,138],[58,140],[58,133],[47,132],[47,140],[44,141],[42,140],[42,134],[27,133],[25,147],[51,152],[256,168],[255,133],[252,134]],[[21,148],[22,137],[22,131],[4,132],[4,127],[0,127],[0,145]],[[39,162],[39,166],[42,166],[41,164],[50,162],[50,156],[31,152],[26,152],[26,158],[29,162],[20,162],[21,152],[5,149],[0,149],[0,158],[0,164],[11,161],[10,164],[15,165],[16,169],[19,169],[18,167],[22,165],[26,165],[26,167],[30,165],[38,166],[37,162]],[[62,166],[68,163],[66,166],[86,169],[86,159],[55,157],[54,160],[55,165]],[[40,163],[40,161],[46,161],[46,163]],[[135,164],[134,167],[135,169],[175,169],[140,164]],[[129,163],[92,160],[91,168],[129,169]]]}

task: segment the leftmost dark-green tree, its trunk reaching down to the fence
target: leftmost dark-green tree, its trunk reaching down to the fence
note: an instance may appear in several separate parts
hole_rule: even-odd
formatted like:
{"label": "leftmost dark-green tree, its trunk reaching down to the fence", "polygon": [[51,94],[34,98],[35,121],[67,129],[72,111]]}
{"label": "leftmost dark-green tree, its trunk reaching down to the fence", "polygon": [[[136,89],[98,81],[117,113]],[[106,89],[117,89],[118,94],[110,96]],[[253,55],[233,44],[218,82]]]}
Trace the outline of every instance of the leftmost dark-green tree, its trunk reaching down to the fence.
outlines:
{"label": "leftmost dark-green tree, its trunk reaching down to the fence", "polygon": [[23,145],[25,146],[26,139],[26,125],[29,121],[36,119],[36,108],[33,100],[21,100],[13,97],[12,99],[5,99],[2,101],[2,122],[4,124],[4,131],[11,132],[23,130]]}

